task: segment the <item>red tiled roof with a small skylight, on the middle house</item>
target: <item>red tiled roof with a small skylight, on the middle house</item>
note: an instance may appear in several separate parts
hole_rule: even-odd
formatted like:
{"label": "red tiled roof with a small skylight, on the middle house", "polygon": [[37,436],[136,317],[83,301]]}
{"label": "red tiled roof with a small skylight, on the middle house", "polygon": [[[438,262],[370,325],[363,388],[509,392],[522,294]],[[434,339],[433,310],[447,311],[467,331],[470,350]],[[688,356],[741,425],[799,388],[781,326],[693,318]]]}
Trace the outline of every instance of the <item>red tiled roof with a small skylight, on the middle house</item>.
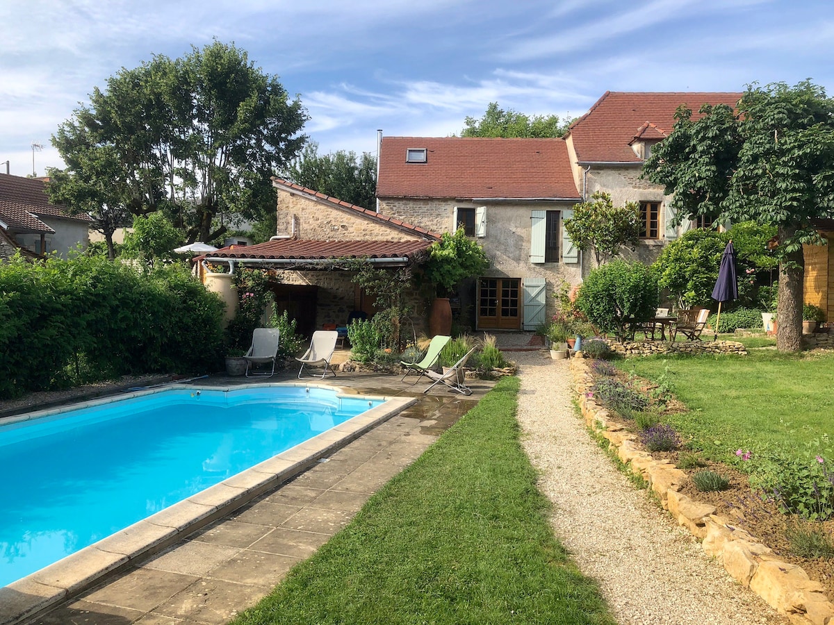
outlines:
{"label": "red tiled roof with a small skylight, on the middle house", "polygon": [[[406,150],[425,148],[425,163]],[[378,198],[578,199],[563,139],[384,137]]]}

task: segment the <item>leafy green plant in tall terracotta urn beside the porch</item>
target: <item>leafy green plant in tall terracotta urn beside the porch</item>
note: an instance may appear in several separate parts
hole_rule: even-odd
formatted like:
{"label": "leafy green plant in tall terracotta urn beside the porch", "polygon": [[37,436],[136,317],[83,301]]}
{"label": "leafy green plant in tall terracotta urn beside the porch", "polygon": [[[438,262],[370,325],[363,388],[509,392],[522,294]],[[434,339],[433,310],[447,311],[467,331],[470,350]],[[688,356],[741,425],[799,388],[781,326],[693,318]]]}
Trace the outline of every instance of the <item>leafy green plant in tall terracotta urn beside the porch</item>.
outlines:
{"label": "leafy green plant in tall terracotta urn beside the porch", "polygon": [[484,248],[470,238],[464,229],[455,234],[443,233],[440,241],[432,243],[423,270],[425,278],[435,285],[436,299],[432,303],[429,328],[433,335],[451,334],[452,312],[449,294],[466,278],[475,278],[490,266]]}

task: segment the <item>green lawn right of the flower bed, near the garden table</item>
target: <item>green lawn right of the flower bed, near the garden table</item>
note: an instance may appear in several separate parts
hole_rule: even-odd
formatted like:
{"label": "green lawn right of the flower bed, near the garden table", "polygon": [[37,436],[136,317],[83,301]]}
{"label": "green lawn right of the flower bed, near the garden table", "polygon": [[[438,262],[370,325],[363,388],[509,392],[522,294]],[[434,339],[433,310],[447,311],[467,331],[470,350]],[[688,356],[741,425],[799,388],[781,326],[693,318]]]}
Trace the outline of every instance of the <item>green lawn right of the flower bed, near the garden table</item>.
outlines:
{"label": "green lawn right of the flower bed, near the garden table", "polygon": [[834,354],[754,349],[746,357],[630,358],[618,366],[652,380],[666,375],[689,408],[669,423],[708,458],[788,448],[834,459],[827,440],[834,432]]}

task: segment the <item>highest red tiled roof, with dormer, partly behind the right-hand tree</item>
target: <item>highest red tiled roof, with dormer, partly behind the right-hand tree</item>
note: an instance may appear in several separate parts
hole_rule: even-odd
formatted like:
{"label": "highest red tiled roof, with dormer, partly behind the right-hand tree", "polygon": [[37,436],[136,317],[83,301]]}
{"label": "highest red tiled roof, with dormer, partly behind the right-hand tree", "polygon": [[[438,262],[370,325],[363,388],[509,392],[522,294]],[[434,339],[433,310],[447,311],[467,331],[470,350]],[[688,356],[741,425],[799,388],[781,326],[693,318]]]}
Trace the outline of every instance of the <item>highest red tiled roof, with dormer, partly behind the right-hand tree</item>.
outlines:
{"label": "highest red tiled roof, with dormer, partly behind the right-hand tree", "polygon": [[609,91],[568,132],[580,162],[641,163],[630,144],[638,137],[660,139],[671,133],[681,104],[691,108],[696,119],[705,102],[736,107],[740,98],[741,92]]}

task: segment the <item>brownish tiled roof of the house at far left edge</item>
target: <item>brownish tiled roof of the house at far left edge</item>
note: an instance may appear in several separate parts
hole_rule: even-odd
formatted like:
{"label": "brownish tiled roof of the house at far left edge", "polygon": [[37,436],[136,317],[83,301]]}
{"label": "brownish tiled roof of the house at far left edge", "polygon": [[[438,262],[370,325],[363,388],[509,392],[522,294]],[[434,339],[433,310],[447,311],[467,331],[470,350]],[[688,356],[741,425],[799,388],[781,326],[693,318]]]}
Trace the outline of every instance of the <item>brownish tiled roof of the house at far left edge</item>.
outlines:
{"label": "brownish tiled roof of the house at far left edge", "polygon": [[34,233],[53,233],[40,217],[91,222],[88,215],[70,215],[49,203],[43,180],[0,174],[0,221],[10,228]]}

